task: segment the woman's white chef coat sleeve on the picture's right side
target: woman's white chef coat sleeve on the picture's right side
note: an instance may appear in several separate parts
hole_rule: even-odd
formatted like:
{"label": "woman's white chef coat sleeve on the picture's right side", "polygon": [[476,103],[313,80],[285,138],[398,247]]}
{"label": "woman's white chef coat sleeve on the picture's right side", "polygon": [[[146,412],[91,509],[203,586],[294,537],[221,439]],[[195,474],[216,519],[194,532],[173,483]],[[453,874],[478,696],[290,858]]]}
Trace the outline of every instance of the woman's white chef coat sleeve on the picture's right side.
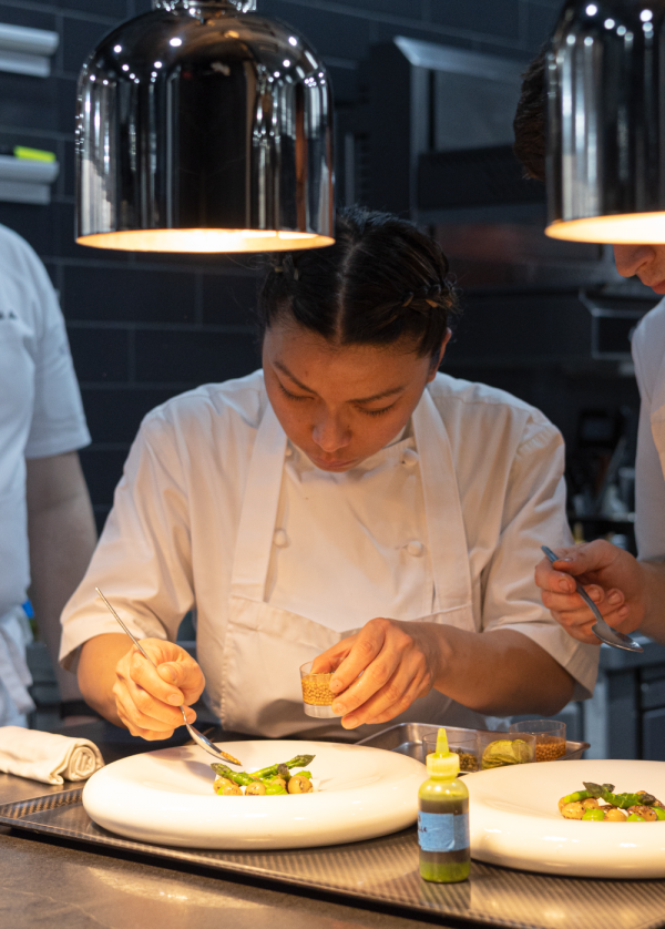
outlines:
{"label": "woman's white chef coat sleeve on the picture's right side", "polygon": [[482,629],[512,629],[544,649],[575,680],[573,700],[593,693],[600,650],[572,639],[543,606],[534,569],[541,545],[569,545],[564,446],[557,429],[530,419],[504,491],[502,529],[482,578]]}

